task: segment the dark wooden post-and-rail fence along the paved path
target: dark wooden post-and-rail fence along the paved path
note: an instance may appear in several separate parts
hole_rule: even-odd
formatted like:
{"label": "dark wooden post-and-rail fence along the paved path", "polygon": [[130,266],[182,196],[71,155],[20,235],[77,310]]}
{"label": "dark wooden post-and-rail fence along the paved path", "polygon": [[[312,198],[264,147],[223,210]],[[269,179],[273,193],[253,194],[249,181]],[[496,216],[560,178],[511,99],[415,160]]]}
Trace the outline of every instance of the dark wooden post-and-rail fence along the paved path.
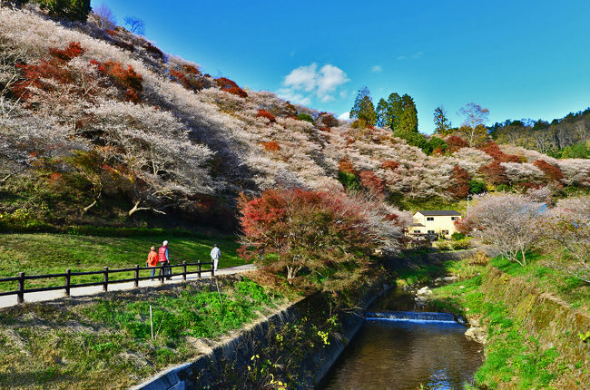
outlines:
{"label": "dark wooden post-and-rail fence along the paved path", "polygon": [[[202,269],[202,266],[211,265],[211,269]],[[197,270],[188,271],[187,268],[189,267],[196,267]],[[182,272],[180,273],[173,273],[172,268],[182,268]],[[140,277],[140,271],[143,270],[153,270],[158,269],[159,275],[149,276],[149,277]],[[166,271],[169,270],[170,273],[167,274]],[[134,272],[133,278],[124,278],[124,279],[109,279],[109,275],[117,274],[121,272]],[[0,278],[0,283],[5,282],[18,282],[18,288],[14,291],[0,291],[0,297],[15,295],[16,302],[18,304],[22,304],[25,302],[25,293],[32,293],[32,292],[39,292],[39,291],[54,291],[63,289],[65,292],[65,296],[69,297],[71,288],[84,288],[90,286],[103,286],[103,291],[108,291],[109,285],[118,284],[118,283],[129,283],[133,282],[133,287],[139,287],[140,280],[147,280],[157,278],[160,280],[160,283],[164,283],[164,279],[182,276],[182,281],[186,281],[187,275],[194,275],[196,274],[198,278],[202,277],[202,273],[211,272],[211,277],[215,276],[215,272],[213,270],[213,262],[204,262],[197,261],[196,263],[187,263],[186,261],[182,261],[182,264],[171,264],[171,265],[161,265],[158,267],[140,267],[139,265],[135,266],[134,268],[119,268],[119,269],[109,269],[108,267],[104,267],[102,271],[87,271],[87,272],[72,272],[71,269],[66,269],[62,274],[47,274],[47,275],[25,275],[25,272],[19,272],[17,277],[12,278]],[[86,276],[86,275],[103,275],[102,281],[97,282],[89,282],[89,283],[72,283],[72,277],[79,277],[79,276]],[[25,281],[26,280],[35,280],[35,279],[52,279],[52,278],[64,278],[64,285],[60,286],[52,286],[52,287],[45,287],[45,288],[25,288]]]}

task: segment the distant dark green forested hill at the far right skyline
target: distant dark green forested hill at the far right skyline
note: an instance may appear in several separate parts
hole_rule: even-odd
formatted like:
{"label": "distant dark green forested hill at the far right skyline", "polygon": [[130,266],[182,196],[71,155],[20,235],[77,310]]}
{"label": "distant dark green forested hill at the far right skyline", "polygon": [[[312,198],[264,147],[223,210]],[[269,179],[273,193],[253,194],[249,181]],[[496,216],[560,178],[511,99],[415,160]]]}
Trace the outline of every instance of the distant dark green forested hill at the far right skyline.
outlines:
{"label": "distant dark green forested hill at the far right skyline", "polygon": [[498,143],[534,149],[558,158],[590,158],[590,109],[569,113],[551,123],[506,121],[489,128]]}

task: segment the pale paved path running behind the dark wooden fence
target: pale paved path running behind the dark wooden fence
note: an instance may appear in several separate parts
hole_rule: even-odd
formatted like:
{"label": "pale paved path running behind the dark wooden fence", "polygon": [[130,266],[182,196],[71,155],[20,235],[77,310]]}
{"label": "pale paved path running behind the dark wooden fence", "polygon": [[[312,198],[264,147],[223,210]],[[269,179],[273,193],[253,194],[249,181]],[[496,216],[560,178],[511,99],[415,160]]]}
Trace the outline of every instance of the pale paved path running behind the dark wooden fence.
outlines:
{"label": "pale paved path running behind the dark wooden fence", "polygon": [[[178,269],[178,268],[175,268]],[[231,268],[220,268],[217,270],[216,276],[221,275],[231,275],[231,274],[239,274],[241,272],[246,272],[254,269],[253,264],[246,264],[243,266],[231,267]],[[210,271],[203,271],[202,278],[211,278]],[[197,280],[197,275],[187,275],[187,281]],[[182,283],[182,275],[174,276],[171,280],[165,280],[165,284],[171,283]],[[139,282],[140,288],[146,287],[153,287],[153,286],[161,286],[161,283],[158,280],[141,280]],[[127,290],[135,288],[133,286],[133,282],[129,283],[116,283],[111,284],[109,283],[109,291],[117,291],[117,290]],[[103,292],[102,286],[91,286],[85,288],[72,288],[70,290],[70,295],[72,297],[80,297],[85,295],[93,295],[99,294]],[[32,292],[32,293],[25,293],[25,302],[40,302],[44,300],[52,300],[57,299],[59,297],[65,297],[65,292],[62,290],[55,290],[55,291],[40,291],[40,292]],[[0,307],[11,307],[16,305],[16,296],[7,296],[7,297],[0,297]]]}

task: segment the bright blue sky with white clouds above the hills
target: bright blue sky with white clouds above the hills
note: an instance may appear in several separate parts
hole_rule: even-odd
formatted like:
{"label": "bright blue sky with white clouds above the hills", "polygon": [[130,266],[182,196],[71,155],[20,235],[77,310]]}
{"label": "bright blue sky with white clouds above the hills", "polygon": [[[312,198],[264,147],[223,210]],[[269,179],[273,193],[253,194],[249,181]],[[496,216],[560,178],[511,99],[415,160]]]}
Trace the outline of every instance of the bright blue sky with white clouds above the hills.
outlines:
{"label": "bright blue sky with white clouds above the hills", "polygon": [[454,125],[467,102],[488,124],[590,106],[588,1],[92,1],[103,4],[204,73],[337,115],[364,85],[375,104],[411,95],[426,133],[438,105]]}

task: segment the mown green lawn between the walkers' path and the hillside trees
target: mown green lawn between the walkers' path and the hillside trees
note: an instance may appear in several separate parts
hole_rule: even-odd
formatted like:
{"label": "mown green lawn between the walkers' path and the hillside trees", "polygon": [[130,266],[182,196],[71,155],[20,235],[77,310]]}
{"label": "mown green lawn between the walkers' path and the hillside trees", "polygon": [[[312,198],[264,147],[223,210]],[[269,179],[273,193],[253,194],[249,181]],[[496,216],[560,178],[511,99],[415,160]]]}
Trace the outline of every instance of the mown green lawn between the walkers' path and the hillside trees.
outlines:
{"label": "mown green lawn between the walkers' path and the hillside trees", "polygon": [[[0,278],[13,277],[18,272],[28,275],[64,273],[70,268],[72,272],[101,270],[108,268],[132,268],[136,264],[145,267],[150,247],[159,248],[167,239],[170,244],[172,264],[182,261],[211,261],[209,253],[214,243],[221,249],[220,268],[245,264],[238,257],[236,249],[239,244],[231,238],[203,238],[174,236],[173,234],[146,235],[138,237],[96,237],[69,234],[2,234],[0,236]],[[203,266],[202,269],[209,269]],[[189,269],[191,270],[191,269]],[[140,276],[149,276],[149,270]],[[174,272],[180,272],[176,268]],[[72,283],[102,280],[102,275],[73,277]],[[133,278],[131,274],[109,275],[110,279]],[[64,279],[27,280],[25,287],[63,285]],[[15,283],[0,283],[0,290],[16,288]]]}

